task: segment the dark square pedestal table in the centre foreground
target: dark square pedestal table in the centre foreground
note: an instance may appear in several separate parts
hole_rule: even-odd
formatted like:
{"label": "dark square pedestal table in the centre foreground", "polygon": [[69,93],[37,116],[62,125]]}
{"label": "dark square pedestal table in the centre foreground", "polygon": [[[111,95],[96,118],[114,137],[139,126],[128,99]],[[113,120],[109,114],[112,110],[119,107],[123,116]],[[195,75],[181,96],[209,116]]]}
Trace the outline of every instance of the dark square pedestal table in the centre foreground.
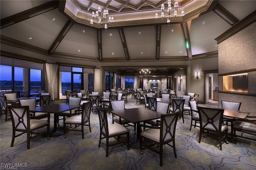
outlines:
{"label": "dark square pedestal table in the centre foreground", "polygon": [[132,108],[132,109],[122,109],[111,111],[113,114],[126,119],[127,121],[134,123],[136,125],[136,141],[131,143],[132,148],[139,148],[139,138],[140,138],[140,123],[144,121],[150,121],[154,119],[159,119],[163,113],[146,109],[144,107]]}

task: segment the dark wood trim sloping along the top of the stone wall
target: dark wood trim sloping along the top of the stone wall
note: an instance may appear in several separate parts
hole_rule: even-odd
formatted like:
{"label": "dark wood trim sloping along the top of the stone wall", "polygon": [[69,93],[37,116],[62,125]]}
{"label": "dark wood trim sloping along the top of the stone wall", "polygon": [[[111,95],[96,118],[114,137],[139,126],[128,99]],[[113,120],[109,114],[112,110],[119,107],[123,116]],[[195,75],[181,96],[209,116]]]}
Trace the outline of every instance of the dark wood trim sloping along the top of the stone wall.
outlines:
{"label": "dark wood trim sloping along the top of the stone wall", "polygon": [[250,24],[254,23],[256,21],[256,10],[246,16],[243,20],[240,22],[236,23],[234,26],[232,26],[230,29],[228,29],[226,32],[215,38],[217,43],[221,43],[224,40],[230,38],[237,32],[240,32],[244,28],[248,27]]}

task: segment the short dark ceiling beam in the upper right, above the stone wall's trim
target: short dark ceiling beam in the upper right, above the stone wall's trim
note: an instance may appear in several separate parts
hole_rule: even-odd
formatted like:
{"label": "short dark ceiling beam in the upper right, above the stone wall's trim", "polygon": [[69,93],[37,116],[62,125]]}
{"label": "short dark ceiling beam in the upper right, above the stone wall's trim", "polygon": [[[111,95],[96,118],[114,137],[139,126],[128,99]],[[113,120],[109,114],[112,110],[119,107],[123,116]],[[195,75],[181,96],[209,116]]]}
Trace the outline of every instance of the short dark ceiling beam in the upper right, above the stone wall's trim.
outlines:
{"label": "short dark ceiling beam in the upper right, above the stone wall's trim", "polygon": [[219,3],[213,8],[213,12],[215,12],[220,18],[225,20],[231,26],[234,26],[239,20],[233,16],[228,10],[226,10]]}

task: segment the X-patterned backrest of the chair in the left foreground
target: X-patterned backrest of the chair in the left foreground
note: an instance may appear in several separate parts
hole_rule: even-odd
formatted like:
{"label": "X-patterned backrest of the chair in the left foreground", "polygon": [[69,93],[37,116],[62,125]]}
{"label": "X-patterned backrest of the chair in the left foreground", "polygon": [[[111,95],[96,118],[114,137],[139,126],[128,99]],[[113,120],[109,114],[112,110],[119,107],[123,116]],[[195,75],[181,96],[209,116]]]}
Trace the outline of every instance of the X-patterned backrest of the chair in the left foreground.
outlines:
{"label": "X-patterned backrest of the chair in the left foreground", "polygon": [[30,113],[29,106],[11,106],[7,107],[12,119],[12,128],[14,130],[29,132],[30,130]]}

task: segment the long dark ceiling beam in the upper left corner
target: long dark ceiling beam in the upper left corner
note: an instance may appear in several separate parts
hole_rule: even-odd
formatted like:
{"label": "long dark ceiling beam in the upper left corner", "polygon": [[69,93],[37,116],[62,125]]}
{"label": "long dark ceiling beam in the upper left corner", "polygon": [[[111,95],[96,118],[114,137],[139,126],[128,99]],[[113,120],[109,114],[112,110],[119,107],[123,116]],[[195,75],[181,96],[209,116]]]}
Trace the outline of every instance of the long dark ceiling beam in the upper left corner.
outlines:
{"label": "long dark ceiling beam in the upper left corner", "polygon": [[16,24],[18,22],[22,22],[39,14],[43,14],[44,12],[48,12],[55,8],[58,8],[59,2],[57,0],[42,4],[40,6],[36,6],[34,8],[28,9],[26,11],[20,12],[18,14],[14,14],[12,16],[1,19],[1,28],[5,28],[7,26],[11,26],[12,24]]}

